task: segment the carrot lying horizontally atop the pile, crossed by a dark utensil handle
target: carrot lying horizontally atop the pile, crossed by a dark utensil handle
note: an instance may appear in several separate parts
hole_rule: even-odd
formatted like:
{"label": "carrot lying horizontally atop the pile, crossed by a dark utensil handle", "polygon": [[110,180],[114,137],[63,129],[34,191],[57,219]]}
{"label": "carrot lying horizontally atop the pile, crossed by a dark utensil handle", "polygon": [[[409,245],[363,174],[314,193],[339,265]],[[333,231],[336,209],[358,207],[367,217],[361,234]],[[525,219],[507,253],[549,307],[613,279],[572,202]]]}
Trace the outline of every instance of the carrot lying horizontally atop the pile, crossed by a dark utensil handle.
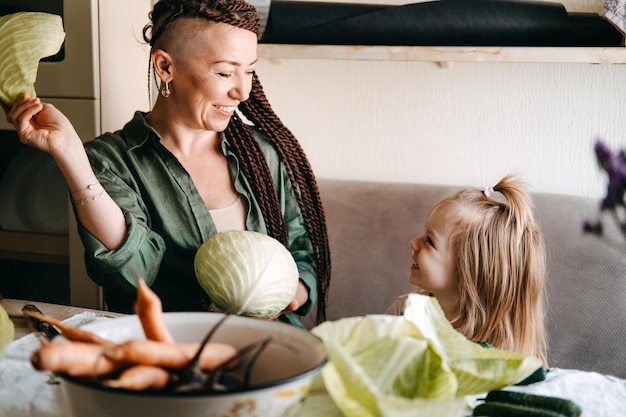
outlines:
{"label": "carrot lying horizontally atop the pile, crossed by a dark utensil handle", "polygon": [[[116,362],[181,369],[194,357],[200,343],[161,343],[153,340],[130,340],[104,350]],[[213,370],[237,356],[237,350],[225,343],[208,343],[200,355],[199,367]]]}

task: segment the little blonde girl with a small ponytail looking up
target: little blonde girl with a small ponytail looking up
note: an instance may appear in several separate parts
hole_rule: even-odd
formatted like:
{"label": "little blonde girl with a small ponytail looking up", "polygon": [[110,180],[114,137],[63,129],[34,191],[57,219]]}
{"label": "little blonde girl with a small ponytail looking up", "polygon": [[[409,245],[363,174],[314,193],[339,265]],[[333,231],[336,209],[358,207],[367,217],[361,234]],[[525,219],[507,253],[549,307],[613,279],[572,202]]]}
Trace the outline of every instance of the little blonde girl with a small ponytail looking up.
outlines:
{"label": "little blonde girl with a small ponytail looking up", "polygon": [[[509,175],[493,188],[462,190],[437,203],[424,234],[410,242],[409,281],[436,297],[468,339],[547,365],[545,247],[524,185]],[[387,313],[401,314],[405,299]]]}

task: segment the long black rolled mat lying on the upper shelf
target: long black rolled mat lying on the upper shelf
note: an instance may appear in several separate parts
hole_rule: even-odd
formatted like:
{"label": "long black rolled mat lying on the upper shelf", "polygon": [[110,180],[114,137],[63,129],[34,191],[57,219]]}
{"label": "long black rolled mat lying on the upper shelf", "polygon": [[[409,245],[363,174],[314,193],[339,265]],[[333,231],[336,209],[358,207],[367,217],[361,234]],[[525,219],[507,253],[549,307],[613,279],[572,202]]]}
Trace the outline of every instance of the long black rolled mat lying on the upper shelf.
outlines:
{"label": "long black rolled mat lying on the upper shelf", "polygon": [[597,14],[560,3],[440,0],[401,6],[273,1],[261,42],[319,45],[617,46]]}

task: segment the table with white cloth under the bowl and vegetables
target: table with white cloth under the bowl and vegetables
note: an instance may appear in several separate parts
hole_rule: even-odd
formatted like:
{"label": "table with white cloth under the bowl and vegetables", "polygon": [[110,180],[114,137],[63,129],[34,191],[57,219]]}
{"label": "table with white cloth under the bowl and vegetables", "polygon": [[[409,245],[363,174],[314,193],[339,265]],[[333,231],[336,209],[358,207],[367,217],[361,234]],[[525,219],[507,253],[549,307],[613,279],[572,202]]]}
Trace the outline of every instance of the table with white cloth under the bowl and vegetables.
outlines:
{"label": "table with white cloth under the bowl and vegetables", "polygon": [[[37,372],[30,365],[30,355],[39,342],[28,334],[21,309],[24,304],[35,304],[44,314],[72,325],[110,319],[117,314],[24,300],[4,299],[0,303],[16,325],[16,338],[0,359],[0,417],[70,417],[60,386],[48,384],[48,374]],[[584,417],[622,416],[626,409],[626,380],[596,372],[552,369],[544,382],[508,389],[571,399],[583,408]],[[322,416],[342,417],[343,414],[319,383],[297,417]]]}

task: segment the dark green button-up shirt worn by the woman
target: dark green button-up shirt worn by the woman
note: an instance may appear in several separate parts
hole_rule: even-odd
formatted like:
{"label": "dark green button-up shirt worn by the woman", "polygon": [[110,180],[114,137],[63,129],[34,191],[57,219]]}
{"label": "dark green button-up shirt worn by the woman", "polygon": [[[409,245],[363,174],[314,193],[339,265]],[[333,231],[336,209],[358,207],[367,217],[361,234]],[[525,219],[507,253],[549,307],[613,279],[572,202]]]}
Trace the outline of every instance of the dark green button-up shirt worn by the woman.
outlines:
{"label": "dark green button-up shirt worn by the woman", "polygon": [[[196,250],[217,230],[191,177],[144,116],[137,112],[122,130],[85,143],[94,173],[123,210],[128,229],[124,244],[108,250],[79,225],[87,270],[105,289],[111,310],[133,312],[137,277],[159,295],[164,311],[202,310],[210,300],[196,281],[193,260]],[[297,311],[306,315],[317,300],[311,241],[285,166],[264,135],[251,129],[272,173],[300,279],[309,289],[308,302]],[[221,147],[235,189],[247,202],[246,228],[267,233],[259,204],[223,133]],[[301,325],[293,313],[285,318]]]}

